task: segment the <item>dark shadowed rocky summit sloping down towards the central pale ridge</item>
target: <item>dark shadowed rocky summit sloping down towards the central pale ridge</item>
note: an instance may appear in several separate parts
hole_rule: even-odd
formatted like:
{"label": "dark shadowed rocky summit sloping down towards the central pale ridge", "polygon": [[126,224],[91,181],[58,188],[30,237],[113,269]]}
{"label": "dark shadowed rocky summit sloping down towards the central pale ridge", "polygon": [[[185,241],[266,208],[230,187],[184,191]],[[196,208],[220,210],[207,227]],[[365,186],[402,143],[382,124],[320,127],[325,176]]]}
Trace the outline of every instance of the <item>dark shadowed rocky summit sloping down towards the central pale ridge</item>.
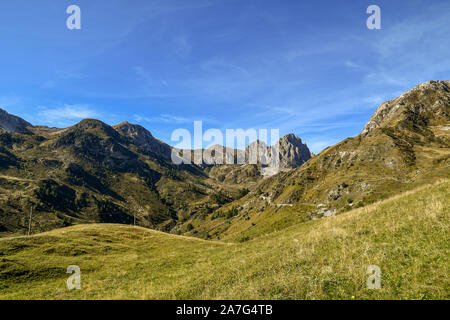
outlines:
{"label": "dark shadowed rocky summit sloping down towards the central pale ridge", "polygon": [[114,129],[121,135],[131,138],[133,143],[147,151],[153,152],[166,160],[171,158],[172,148],[168,144],[154,138],[150,131],[144,127],[125,121],[114,126]]}

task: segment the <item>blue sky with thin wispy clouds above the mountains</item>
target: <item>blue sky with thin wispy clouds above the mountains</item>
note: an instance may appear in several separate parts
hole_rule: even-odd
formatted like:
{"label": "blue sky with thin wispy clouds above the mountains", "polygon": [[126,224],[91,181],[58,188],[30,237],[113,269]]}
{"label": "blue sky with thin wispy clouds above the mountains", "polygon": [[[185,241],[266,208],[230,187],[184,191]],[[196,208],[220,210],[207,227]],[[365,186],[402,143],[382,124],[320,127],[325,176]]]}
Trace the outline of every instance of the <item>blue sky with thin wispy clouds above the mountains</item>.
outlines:
{"label": "blue sky with thin wispy clouds above the mountains", "polygon": [[[66,28],[72,4],[81,30]],[[127,120],[168,143],[194,120],[278,128],[319,152],[450,78],[449,21],[448,1],[2,1],[0,107],[57,127]]]}

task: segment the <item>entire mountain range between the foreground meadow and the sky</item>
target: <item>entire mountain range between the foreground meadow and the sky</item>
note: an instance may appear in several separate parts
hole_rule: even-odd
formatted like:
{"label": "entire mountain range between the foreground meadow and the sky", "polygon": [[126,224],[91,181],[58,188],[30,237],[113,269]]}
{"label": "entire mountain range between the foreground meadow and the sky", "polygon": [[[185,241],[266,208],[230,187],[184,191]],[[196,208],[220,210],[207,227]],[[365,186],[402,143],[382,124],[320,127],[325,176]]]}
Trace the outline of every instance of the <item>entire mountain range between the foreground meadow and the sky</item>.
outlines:
{"label": "entire mountain range between the foreground meadow and the sky", "polygon": [[[1,110],[0,234],[26,233],[33,208],[33,232],[113,222],[248,241],[448,178],[449,115],[450,81],[428,81],[382,103],[358,136],[318,155],[294,134],[282,137],[281,170],[270,172],[208,159],[175,165],[169,145],[128,122],[58,129]],[[237,157],[250,148],[268,147],[223,150]]]}

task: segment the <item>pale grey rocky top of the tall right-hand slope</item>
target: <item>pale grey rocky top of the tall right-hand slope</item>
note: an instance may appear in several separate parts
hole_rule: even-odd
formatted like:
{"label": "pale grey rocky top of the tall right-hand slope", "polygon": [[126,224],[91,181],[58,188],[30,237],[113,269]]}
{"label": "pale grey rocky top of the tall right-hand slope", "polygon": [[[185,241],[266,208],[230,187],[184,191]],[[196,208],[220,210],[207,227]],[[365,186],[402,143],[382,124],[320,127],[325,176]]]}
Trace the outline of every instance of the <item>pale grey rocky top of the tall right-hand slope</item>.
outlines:
{"label": "pale grey rocky top of the tall right-hand slope", "polygon": [[417,85],[413,89],[406,91],[400,97],[382,103],[375,114],[370,118],[361,134],[369,134],[376,128],[391,124],[403,118],[402,113],[411,111],[417,115],[424,115],[432,112],[430,117],[435,122],[445,120],[449,117],[450,104],[450,81],[428,81]]}

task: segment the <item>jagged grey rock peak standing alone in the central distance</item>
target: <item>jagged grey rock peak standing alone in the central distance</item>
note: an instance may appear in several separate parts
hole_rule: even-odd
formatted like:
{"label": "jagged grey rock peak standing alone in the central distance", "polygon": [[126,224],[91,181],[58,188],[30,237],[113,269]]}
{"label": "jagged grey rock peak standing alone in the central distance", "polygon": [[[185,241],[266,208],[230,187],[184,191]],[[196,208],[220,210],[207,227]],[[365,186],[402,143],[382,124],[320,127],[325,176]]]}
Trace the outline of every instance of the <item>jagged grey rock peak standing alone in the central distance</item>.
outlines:
{"label": "jagged grey rock peak standing alone in the central distance", "polygon": [[306,143],[293,133],[287,134],[279,141],[280,168],[296,168],[311,158]]}

